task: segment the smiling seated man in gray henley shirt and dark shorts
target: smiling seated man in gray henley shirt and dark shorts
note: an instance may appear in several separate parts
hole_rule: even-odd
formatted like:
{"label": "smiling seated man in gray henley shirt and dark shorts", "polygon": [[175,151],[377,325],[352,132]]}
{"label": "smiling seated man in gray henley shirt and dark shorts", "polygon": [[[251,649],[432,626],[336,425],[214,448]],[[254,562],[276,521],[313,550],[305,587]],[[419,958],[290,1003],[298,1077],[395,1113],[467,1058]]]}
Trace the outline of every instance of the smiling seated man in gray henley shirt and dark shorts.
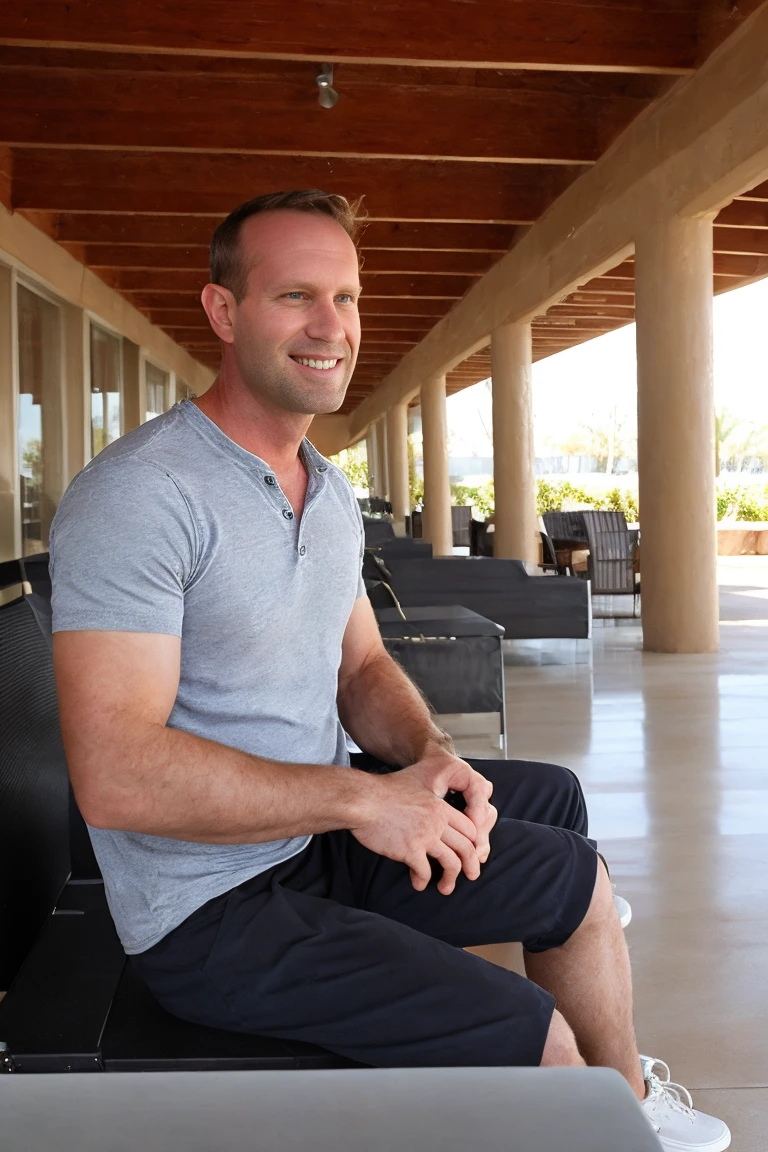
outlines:
{"label": "smiling seated man in gray henley shirt and dark shorts", "polygon": [[[62,730],[126,952],[190,1021],[378,1066],[607,1064],[667,1149],[725,1149],[638,1056],[576,778],[459,759],[383,650],[351,488],[304,438],[355,367],[355,227],[318,191],[231,213],[215,382],[55,520]],[[529,979],[463,950],[504,940]]]}

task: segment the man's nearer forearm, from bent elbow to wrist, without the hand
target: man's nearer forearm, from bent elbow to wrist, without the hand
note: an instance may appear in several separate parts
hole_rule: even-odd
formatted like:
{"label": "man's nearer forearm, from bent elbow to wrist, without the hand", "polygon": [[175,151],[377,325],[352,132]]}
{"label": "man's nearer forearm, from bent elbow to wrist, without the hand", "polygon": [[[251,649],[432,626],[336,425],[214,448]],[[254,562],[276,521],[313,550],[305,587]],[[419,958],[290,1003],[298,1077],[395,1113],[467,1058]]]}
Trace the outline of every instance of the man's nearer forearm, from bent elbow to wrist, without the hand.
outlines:
{"label": "man's nearer forearm, from bent elbow to wrist, without the hand", "polygon": [[134,734],[122,746],[82,772],[88,752],[68,748],[78,803],[97,827],[259,843],[355,826],[373,785],[353,768],[260,759],[175,728]]}

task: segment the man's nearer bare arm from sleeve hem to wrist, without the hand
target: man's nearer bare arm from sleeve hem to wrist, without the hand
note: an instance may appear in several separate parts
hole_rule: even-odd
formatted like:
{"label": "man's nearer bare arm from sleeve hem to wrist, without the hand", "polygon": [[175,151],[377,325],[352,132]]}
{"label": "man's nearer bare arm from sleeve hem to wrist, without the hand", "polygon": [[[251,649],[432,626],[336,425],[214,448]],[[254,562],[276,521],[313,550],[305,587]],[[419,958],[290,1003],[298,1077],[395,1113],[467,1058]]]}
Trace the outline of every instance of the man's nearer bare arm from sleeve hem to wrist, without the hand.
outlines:
{"label": "man's nearer bare arm from sleeve hem to wrist, without the hand", "polygon": [[343,767],[260,759],[166,727],[181,642],[139,632],[56,632],[67,761],[96,827],[244,843],[347,827],[366,779]]}

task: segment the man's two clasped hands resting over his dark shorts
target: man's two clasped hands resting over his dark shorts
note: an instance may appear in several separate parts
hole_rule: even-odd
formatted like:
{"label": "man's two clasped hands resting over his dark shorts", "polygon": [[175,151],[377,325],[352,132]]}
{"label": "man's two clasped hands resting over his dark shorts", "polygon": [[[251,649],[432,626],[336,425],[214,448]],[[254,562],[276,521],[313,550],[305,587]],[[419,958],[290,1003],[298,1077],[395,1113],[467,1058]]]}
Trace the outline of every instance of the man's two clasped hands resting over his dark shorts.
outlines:
{"label": "man's two clasped hands resting over his dark shorts", "polygon": [[[487,780],[464,760],[441,750],[401,772],[375,776],[372,785],[368,812],[350,828],[362,844],[406,864],[417,892],[423,892],[432,879],[429,857],[442,866],[438,889],[444,896],[456,887],[459,872],[477,880],[496,819],[488,803],[492,786]],[[471,805],[482,831],[470,814],[446,803],[443,796],[451,789],[465,794],[467,813]]]}

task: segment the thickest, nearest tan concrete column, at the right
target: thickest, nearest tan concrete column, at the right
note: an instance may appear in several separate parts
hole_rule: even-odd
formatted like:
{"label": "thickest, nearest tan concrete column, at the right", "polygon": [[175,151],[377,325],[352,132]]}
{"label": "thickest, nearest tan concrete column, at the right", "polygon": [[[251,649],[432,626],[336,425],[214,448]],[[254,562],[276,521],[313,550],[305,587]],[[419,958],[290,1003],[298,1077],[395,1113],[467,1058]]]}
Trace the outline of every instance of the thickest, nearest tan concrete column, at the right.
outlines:
{"label": "thickest, nearest tan concrete column, at the right", "polygon": [[712,220],[636,242],[642,632],[649,652],[716,652]]}

